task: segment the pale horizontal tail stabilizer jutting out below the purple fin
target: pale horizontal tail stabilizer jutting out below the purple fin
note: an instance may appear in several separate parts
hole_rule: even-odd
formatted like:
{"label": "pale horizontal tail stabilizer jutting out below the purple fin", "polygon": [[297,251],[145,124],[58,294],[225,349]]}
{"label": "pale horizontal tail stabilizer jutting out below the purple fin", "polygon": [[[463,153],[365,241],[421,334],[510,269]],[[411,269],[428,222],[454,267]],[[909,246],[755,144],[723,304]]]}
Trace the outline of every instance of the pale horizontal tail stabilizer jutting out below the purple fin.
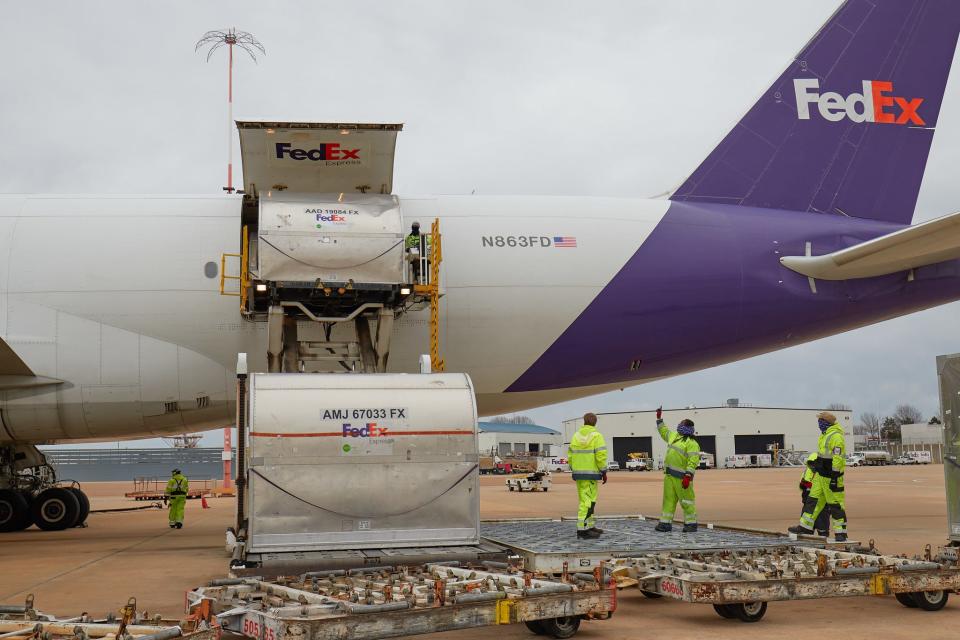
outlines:
{"label": "pale horizontal tail stabilizer jutting out below the purple fin", "polygon": [[960,258],[960,212],[822,256],[784,256],[780,263],[818,280],[850,280],[956,258]]}

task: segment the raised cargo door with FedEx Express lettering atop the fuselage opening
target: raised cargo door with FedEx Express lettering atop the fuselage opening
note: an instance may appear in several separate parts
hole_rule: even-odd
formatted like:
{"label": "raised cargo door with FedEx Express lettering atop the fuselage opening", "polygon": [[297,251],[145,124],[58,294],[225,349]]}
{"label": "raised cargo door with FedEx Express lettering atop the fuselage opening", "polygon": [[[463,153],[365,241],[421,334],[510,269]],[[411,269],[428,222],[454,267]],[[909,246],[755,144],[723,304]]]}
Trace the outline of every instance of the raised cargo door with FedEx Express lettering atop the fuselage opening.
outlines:
{"label": "raised cargo door with FedEx Express lettering atop the fuselage opening", "polygon": [[237,121],[243,188],[259,192],[393,192],[402,124]]}

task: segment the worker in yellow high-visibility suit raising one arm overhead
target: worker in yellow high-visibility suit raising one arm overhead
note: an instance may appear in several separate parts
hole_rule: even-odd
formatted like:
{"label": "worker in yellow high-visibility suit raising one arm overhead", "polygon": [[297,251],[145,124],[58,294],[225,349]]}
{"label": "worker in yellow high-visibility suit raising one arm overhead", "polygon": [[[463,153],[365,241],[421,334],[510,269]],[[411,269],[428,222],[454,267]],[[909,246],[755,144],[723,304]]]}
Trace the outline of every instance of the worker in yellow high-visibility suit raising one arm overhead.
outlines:
{"label": "worker in yellow high-visibility suit raising one arm overhead", "polygon": [[684,418],[674,431],[663,421],[663,407],[657,409],[657,431],[667,443],[663,459],[663,509],[657,531],[673,530],[677,502],[683,509],[683,532],[697,530],[697,503],[693,493],[693,474],[700,466],[700,444],[693,438],[693,420]]}

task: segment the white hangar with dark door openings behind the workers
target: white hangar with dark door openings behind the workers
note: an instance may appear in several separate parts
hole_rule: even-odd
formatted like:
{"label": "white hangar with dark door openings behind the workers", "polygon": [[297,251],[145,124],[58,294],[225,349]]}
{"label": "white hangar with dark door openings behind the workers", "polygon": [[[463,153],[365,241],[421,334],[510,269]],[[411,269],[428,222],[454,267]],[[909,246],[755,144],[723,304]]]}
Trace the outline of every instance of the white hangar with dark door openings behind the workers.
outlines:
{"label": "white hangar with dark door openings behind the workers", "polygon": [[[693,420],[697,441],[703,451],[712,453],[717,467],[723,466],[727,456],[734,454],[772,453],[768,445],[776,443],[780,449],[815,451],[817,414],[825,409],[787,409],[782,407],[754,407],[728,400],[720,407],[691,407],[664,409],[663,419],[671,428],[683,418]],[[837,422],[847,434],[847,446],[853,451],[853,412],[833,411]],[[610,460],[620,463],[622,469],[632,452],[645,451],[654,460],[663,460],[667,445],[656,428],[655,411],[626,411],[598,413],[597,428],[607,440]],[[563,441],[570,442],[574,432],[583,424],[583,418],[563,421]]]}

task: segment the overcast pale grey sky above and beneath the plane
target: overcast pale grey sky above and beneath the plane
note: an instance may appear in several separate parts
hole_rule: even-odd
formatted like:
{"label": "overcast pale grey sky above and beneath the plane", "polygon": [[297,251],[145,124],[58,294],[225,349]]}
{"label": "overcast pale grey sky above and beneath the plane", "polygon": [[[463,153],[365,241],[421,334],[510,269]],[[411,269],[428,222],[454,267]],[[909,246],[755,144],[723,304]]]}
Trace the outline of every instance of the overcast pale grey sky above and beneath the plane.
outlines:
{"label": "overcast pale grey sky above and beneath the plane", "polygon": [[[404,122],[400,195],[653,196],[696,167],[838,4],[0,0],[0,192],[219,192],[226,52],[208,64],[193,45],[235,26],[267,49],[258,64],[238,56],[235,117]],[[957,75],[916,220],[957,208]],[[934,357],[960,351],[958,316],[953,304],[528,414],[557,426],[588,409],[739,397],[856,413],[905,401],[932,415]]]}

